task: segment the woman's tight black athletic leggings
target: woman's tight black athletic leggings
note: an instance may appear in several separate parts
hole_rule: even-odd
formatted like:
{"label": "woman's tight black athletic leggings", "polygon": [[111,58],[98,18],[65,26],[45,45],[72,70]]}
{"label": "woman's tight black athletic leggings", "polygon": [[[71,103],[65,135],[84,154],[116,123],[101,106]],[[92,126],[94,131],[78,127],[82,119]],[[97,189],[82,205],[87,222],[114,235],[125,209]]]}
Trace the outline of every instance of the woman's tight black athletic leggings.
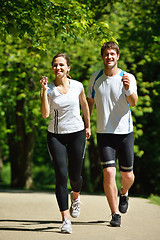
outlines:
{"label": "woman's tight black athletic leggings", "polygon": [[48,132],[47,144],[55,169],[58,206],[60,211],[65,211],[68,209],[68,173],[72,190],[79,192],[82,187],[81,170],[86,144],[85,131],[69,134]]}

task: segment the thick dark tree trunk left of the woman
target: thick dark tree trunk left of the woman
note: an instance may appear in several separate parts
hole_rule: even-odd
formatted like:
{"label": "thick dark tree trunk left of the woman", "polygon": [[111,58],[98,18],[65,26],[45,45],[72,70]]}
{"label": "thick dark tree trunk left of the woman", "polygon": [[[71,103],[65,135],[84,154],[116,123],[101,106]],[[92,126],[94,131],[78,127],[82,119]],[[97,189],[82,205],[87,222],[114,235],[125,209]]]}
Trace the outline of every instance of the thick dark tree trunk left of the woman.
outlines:
{"label": "thick dark tree trunk left of the woman", "polygon": [[[23,85],[19,86],[22,91]],[[17,93],[18,96],[19,93]],[[26,131],[25,121],[25,99],[17,98],[16,107],[6,112],[8,133],[9,156],[11,162],[11,187],[31,188],[32,180],[32,156],[34,149],[35,127],[30,125],[31,130]],[[29,113],[29,120],[33,119]],[[29,124],[27,122],[27,124]]]}

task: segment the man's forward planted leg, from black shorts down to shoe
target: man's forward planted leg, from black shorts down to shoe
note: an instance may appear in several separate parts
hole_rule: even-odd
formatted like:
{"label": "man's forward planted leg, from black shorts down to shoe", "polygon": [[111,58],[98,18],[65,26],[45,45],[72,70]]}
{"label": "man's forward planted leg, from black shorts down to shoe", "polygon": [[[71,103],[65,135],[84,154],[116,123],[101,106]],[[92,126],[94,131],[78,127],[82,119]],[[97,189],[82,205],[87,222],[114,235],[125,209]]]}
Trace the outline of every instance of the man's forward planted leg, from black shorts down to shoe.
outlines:
{"label": "man's forward planted leg, from black shorts down to shoe", "polygon": [[121,226],[121,216],[118,213],[118,190],[116,185],[116,149],[114,134],[97,133],[97,142],[103,166],[103,186],[111,210],[110,225]]}

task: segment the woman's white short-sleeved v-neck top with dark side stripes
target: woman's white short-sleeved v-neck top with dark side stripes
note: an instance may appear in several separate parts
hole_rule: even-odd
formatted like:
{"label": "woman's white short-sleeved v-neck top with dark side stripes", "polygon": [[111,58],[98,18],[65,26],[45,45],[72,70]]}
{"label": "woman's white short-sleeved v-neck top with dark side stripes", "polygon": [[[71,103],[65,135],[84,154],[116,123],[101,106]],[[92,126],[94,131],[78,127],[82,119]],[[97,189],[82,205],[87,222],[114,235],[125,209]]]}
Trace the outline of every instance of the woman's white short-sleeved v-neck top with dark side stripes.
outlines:
{"label": "woman's white short-sleeved v-neck top with dark side stripes", "polygon": [[70,88],[66,94],[58,91],[54,82],[48,84],[48,101],[50,105],[50,122],[48,131],[56,134],[65,134],[81,131],[84,122],[80,115],[79,95],[82,92],[82,83],[69,80]]}

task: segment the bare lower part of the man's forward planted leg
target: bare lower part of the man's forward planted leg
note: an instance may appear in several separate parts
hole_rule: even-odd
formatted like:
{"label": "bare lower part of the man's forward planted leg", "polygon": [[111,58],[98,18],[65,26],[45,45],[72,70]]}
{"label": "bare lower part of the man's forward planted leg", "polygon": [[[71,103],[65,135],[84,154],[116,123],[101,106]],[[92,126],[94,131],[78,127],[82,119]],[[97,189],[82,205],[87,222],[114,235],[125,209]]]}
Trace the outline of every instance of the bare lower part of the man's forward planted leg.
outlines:
{"label": "bare lower part of the man's forward planted leg", "polygon": [[116,186],[116,168],[103,169],[103,186],[111,209],[111,213],[118,212],[118,190]]}

